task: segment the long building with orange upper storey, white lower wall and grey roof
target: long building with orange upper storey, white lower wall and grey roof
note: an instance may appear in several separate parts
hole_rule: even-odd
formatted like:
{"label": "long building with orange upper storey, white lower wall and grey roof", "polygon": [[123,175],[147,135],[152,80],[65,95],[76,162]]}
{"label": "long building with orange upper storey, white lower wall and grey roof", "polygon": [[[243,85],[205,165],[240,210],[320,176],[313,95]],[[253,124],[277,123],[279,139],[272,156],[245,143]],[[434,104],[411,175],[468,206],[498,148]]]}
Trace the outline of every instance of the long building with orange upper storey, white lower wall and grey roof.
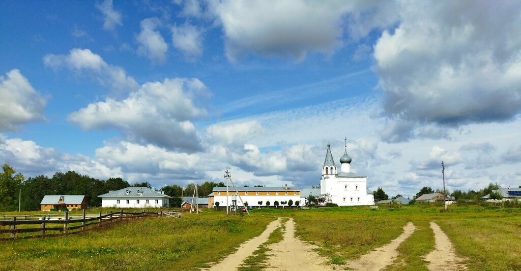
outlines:
{"label": "long building with orange upper storey, white lower wall and grey roof", "polygon": [[[289,202],[293,201],[293,206],[296,205],[296,201],[300,201],[300,205],[303,205],[302,199],[300,198],[300,188],[299,187],[238,187],[238,192],[235,192],[233,187],[228,188],[228,205],[233,206],[237,205],[242,207],[243,204],[239,199],[238,195],[241,196],[242,200],[248,206],[252,207],[266,207],[266,202],[269,201],[269,206],[274,206],[275,201],[279,202],[279,207],[286,207],[288,204],[281,204],[281,201]],[[226,206],[226,187],[214,187],[213,189],[214,201],[213,205],[216,202],[219,202],[220,207]],[[259,202],[262,202],[259,204]]]}

